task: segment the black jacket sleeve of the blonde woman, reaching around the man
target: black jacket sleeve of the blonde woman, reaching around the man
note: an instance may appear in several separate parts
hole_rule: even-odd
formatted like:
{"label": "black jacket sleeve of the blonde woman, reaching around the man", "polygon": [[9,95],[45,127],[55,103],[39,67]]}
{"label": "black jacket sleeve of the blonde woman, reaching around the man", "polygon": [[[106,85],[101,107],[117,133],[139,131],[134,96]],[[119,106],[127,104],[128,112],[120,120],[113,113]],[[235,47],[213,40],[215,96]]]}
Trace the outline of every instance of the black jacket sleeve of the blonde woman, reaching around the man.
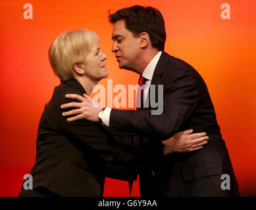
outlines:
{"label": "black jacket sleeve of the blonde woman, reaching around the man", "polygon": [[[118,142],[113,140],[109,132],[107,132],[99,123],[93,123],[86,119],[68,122],[66,117],[63,117],[60,106],[75,100],[65,98],[66,93],[76,93],[78,91],[67,90],[57,91],[55,96],[55,107],[58,112],[59,121],[63,127],[63,133],[74,144],[86,148],[86,151],[93,151],[93,154],[104,159],[107,163],[116,166],[133,166],[140,164],[140,161],[150,156],[150,151],[143,151],[140,148],[120,146]],[[68,109],[67,109],[68,110]],[[163,149],[162,149],[163,150]]]}

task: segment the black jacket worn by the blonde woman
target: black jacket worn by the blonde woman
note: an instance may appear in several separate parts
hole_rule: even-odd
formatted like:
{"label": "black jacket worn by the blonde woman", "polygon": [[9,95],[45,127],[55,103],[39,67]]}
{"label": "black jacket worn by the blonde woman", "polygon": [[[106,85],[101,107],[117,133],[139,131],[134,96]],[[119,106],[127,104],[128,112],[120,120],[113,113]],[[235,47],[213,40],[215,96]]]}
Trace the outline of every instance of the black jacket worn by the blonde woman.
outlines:
{"label": "black jacket worn by the blonde woman", "polygon": [[[30,173],[33,188],[42,186],[61,196],[103,196],[105,176],[131,179],[130,166],[140,162],[142,152],[121,148],[99,123],[66,121],[62,112],[70,109],[61,110],[61,105],[75,101],[65,97],[68,93],[86,91],[75,79],[64,81],[45,105]],[[163,148],[159,151],[163,154]]]}

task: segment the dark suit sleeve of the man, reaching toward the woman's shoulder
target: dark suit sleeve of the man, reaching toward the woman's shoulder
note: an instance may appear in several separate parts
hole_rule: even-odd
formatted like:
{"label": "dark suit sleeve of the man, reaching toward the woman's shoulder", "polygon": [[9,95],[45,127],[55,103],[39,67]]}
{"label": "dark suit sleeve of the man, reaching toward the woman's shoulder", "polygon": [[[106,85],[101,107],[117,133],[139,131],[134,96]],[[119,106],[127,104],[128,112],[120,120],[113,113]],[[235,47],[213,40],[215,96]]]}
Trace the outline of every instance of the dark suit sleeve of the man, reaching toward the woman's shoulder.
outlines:
{"label": "dark suit sleeve of the man, reaching toward the woman's shoulder", "polygon": [[177,72],[165,80],[162,114],[112,109],[110,129],[161,140],[177,133],[198,104],[198,88],[192,72],[189,69]]}

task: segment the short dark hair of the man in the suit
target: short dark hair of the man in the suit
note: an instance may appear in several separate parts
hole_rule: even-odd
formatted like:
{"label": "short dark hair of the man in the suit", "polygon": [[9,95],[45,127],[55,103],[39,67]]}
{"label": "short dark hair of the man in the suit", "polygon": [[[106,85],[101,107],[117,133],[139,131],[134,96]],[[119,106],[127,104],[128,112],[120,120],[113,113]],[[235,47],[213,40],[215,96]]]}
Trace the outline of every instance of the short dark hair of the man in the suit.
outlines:
{"label": "short dark hair of the man in the suit", "polygon": [[126,29],[135,35],[147,32],[153,48],[159,51],[165,49],[165,20],[159,10],[135,5],[120,9],[113,14],[109,13],[109,22],[115,24],[118,20],[125,20]]}

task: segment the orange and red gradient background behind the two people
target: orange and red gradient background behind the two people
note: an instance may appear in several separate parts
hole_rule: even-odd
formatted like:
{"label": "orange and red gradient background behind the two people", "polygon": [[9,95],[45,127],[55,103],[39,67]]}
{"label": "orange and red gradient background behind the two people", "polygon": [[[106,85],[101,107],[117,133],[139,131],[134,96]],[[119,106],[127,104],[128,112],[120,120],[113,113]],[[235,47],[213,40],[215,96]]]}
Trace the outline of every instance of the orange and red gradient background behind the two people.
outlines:
{"label": "orange and red gradient background behind the two people", "polygon": [[[23,5],[33,5],[33,20]],[[222,20],[222,3],[230,20]],[[86,28],[99,35],[113,85],[136,84],[138,75],[120,70],[111,53],[108,11],[152,6],[165,18],[165,51],[191,64],[205,79],[242,196],[256,196],[255,1],[7,1],[0,2],[0,196],[17,196],[24,174],[36,160],[38,123],[59,79],[47,51],[68,30]],[[107,79],[100,81],[107,84]],[[106,87],[107,89],[107,87]],[[116,94],[114,94],[115,96]],[[68,155],[68,154],[63,154]],[[129,196],[128,183],[106,179],[104,196]],[[131,196],[140,196],[139,183]]]}

